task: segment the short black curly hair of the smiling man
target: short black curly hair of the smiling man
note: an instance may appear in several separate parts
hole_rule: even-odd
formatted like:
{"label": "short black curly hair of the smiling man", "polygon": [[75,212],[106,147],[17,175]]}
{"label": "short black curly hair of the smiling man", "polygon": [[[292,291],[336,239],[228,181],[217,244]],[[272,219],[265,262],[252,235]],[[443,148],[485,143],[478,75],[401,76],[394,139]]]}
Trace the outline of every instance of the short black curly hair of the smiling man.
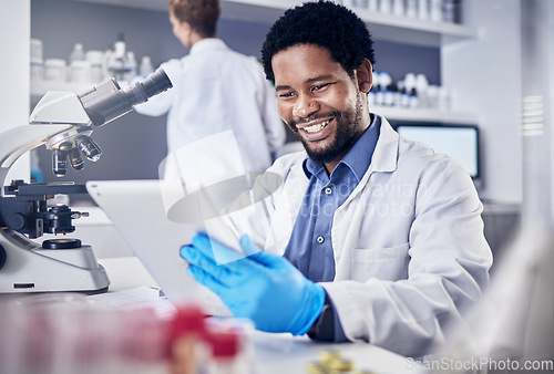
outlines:
{"label": "short black curly hair of the smiling man", "polygon": [[331,1],[307,2],[289,9],[269,29],[261,48],[266,77],[275,83],[273,56],[297,44],[326,48],[352,74],[363,59],[375,64],[373,41],[366,23],[351,10]]}

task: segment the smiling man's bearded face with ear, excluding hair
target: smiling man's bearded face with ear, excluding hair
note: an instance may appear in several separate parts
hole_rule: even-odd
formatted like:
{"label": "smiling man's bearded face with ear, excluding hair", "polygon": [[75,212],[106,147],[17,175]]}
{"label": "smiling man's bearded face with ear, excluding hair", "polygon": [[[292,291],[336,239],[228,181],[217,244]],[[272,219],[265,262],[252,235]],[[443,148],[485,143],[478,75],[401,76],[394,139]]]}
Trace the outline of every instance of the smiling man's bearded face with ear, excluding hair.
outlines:
{"label": "smiling man's bearded face with ear, excluding hair", "polygon": [[280,116],[331,174],[370,124],[371,63],[347,73],[326,48],[297,44],[276,53],[271,69]]}

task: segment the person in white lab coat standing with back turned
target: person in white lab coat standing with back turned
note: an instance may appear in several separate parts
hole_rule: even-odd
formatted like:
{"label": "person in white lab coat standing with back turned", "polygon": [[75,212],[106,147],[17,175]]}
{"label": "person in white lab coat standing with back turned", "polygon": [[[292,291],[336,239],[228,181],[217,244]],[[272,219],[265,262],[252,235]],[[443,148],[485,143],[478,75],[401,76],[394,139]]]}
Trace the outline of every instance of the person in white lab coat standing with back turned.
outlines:
{"label": "person in white lab coat standing with back turned", "polygon": [[152,116],[167,113],[168,155],[232,131],[245,172],[264,172],[286,138],[275,90],[256,58],[233,51],[215,37],[219,13],[218,0],[170,2],[173,33],[191,50],[160,66],[173,89],[135,110]]}

